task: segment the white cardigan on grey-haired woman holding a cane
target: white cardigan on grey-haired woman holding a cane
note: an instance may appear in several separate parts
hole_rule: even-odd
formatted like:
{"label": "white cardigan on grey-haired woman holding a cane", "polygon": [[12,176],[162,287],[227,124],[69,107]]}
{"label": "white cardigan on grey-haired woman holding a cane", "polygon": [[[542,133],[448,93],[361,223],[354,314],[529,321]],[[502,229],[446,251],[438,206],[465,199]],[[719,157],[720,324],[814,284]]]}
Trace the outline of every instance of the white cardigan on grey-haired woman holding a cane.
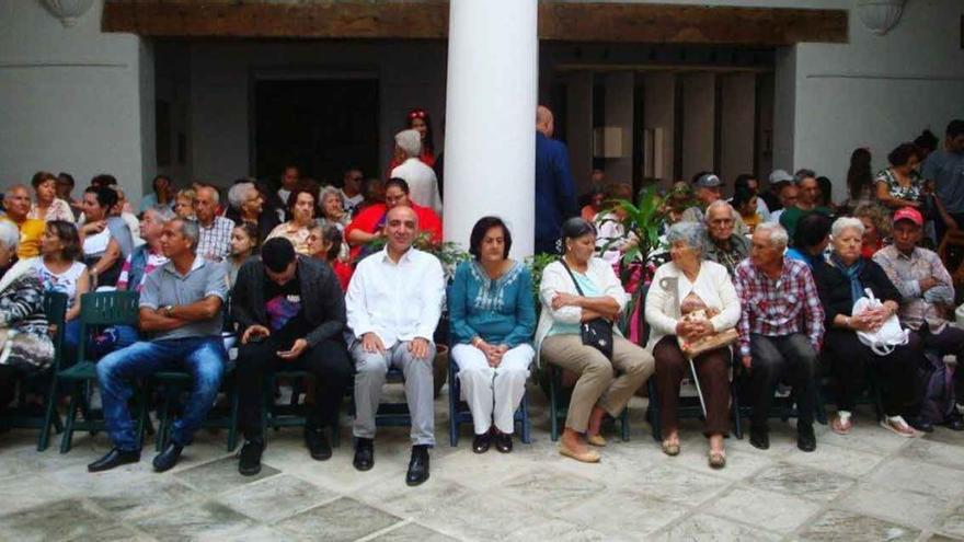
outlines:
{"label": "white cardigan on grey-haired woman holding a cane", "polygon": [[[661,282],[664,278],[677,280],[677,295],[672,290],[663,289]],[[646,323],[651,327],[650,341],[646,343],[647,350],[652,353],[656,343],[666,335],[676,335],[676,324],[680,319],[679,303],[690,292],[696,292],[708,308],[720,311],[710,319],[715,331],[736,326],[741,314],[739,298],[736,296],[736,288],[733,287],[726,267],[715,262],[703,261],[700,263],[700,273],[696,282],[690,282],[676,264],[668,262],[656,269],[653,284],[646,293]]]}

